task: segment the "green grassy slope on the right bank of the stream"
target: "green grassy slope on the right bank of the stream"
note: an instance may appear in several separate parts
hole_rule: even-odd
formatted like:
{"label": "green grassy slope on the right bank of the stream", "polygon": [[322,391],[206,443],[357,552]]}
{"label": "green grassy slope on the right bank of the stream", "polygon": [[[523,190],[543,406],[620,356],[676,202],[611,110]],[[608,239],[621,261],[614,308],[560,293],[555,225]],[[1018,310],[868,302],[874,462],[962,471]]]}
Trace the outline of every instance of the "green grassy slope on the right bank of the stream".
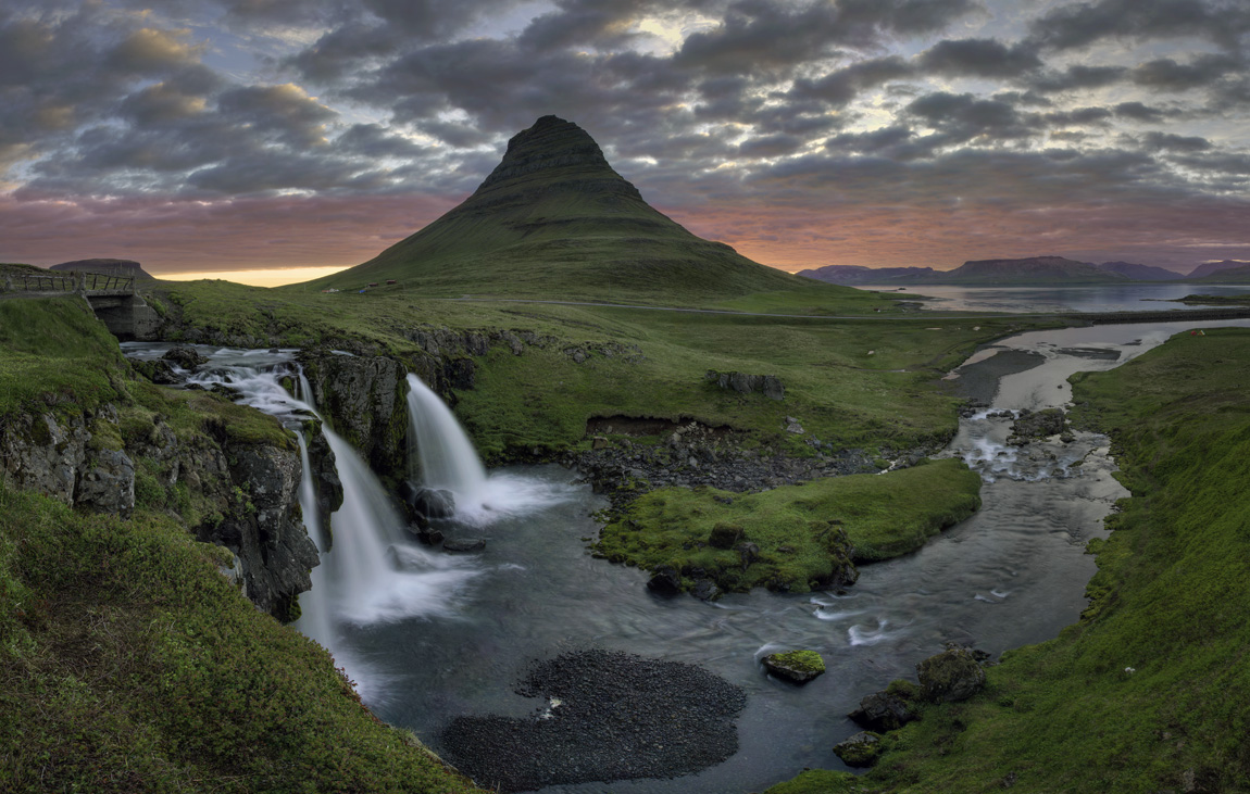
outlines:
{"label": "green grassy slope on the right bank of the stream", "polygon": [[888,734],[878,768],[769,794],[1250,790],[1250,332],[1180,335],[1074,377],[1132,497],[1092,542],[1082,619]]}

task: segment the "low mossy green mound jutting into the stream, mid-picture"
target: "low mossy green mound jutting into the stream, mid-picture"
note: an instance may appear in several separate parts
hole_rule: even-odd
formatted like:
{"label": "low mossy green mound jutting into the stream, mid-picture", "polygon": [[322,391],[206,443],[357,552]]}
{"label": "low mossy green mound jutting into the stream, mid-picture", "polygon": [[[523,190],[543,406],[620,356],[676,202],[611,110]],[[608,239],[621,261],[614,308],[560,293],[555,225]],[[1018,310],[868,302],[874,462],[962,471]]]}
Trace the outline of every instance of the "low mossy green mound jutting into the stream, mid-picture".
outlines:
{"label": "low mossy green mound jutting into the stream, mid-picture", "polygon": [[[846,533],[856,562],[896,557],[971,516],[981,504],[980,487],[980,476],[961,461],[945,459],[762,493],[664,488],[605,526],[595,553],[646,569],[699,568],[728,591],[785,586],[802,593],[844,562],[842,548],[831,546],[834,527]],[[714,532],[755,543],[760,559],[744,568],[736,551],[709,543]]]}

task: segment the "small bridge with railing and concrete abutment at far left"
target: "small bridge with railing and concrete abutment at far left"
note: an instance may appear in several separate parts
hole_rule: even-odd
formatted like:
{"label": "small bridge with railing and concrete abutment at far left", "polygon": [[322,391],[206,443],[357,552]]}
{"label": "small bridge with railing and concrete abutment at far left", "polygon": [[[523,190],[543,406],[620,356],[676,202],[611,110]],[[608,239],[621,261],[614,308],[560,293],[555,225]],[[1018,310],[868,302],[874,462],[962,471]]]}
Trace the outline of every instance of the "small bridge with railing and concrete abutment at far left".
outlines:
{"label": "small bridge with railing and concrete abutment at far left", "polygon": [[155,338],[160,316],[139,295],[134,277],[70,272],[64,276],[15,273],[4,278],[0,298],[78,295],[119,340]]}

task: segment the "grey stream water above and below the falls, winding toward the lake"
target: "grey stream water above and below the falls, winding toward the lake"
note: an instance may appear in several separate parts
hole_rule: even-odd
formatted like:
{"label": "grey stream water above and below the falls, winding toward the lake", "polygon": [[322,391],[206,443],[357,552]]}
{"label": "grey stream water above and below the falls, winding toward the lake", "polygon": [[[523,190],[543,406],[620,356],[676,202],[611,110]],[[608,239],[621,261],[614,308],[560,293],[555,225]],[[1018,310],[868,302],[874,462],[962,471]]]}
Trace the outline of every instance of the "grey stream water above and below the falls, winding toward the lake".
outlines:
{"label": "grey stream water above and below the falls, winding toward the lake", "polygon": [[[435,752],[446,749],[439,734],[455,717],[526,717],[549,707],[512,688],[535,660],[571,650],[696,664],[746,692],[739,750],[729,760],[675,779],[542,789],[549,794],[745,793],[805,767],[846,769],[831,748],[859,730],[845,714],[860,698],[895,678],[914,680],[915,664],[945,642],[996,657],[1055,637],[1085,605],[1095,566],[1084,546],[1105,536],[1101,519],[1128,496],[1111,477],[1108,439],[1078,432],[1070,443],[1009,447],[1011,419],[989,414],[1061,407],[1074,372],[1110,370],[1181,330],[1230,325],[1250,322],[1039,331],[980,351],[952,377],[992,409],[961,419],[941,456],[960,457],[981,474],[982,508],[919,552],[862,566],[844,596],[655,597],[645,572],[590,557],[585,541],[598,529],[590,513],[605,501],[575,472],[550,464],[490,472],[502,509],[439,522],[450,538],[485,539],[485,551],[454,556],[395,541],[410,577],[400,579],[402,599],[351,614],[342,609],[350,604],[335,607],[325,592],[305,594],[300,628],[335,653],[378,717],[411,729]],[[156,357],[174,346],[122,347],[128,356]],[[230,382],[242,402],[280,417],[308,407],[284,398],[280,387],[258,386],[276,386],[274,373],[291,371],[294,351],[194,347],[211,360],[194,376],[201,382]],[[514,497],[515,504],[504,504]],[[335,527],[331,558],[344,542]],[[315,589],[324,587],[314,574]],[[314,624],[320,628],[306,628]],[[828,672],[801,688],[765,674],[761,657],[794,648],[819,652]]]}

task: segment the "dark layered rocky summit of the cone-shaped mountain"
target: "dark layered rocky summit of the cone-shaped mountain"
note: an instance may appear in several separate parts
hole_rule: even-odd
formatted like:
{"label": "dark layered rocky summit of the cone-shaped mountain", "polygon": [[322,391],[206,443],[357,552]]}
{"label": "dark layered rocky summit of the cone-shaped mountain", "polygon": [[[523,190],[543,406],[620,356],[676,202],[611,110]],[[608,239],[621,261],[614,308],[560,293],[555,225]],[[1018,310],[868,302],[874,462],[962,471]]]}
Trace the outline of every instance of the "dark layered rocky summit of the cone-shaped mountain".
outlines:
{"label": "dark layered rocky summit of the cone-shaped mountain", "polygon": [[[629,185],[608,165],[602,150],[589,132],[559,116],[542,116],[508,141],[504,159],[478,187],[478,192],[534,175],[556,174],[574,179],[592,176]],[[632,185],[629,189],[634,191]]]}

